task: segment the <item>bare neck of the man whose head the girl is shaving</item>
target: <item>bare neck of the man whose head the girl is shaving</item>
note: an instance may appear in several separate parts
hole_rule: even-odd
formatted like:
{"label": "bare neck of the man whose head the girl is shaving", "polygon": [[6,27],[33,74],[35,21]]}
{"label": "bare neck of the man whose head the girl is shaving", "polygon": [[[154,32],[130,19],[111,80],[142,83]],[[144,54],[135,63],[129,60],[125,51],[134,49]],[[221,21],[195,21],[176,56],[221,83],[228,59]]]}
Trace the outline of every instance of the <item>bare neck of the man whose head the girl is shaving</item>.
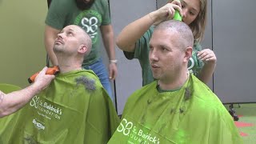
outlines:
{"label": "bare neck of the man whose head the girl is shaving", "polygon": [[159,80],[158,85],[162,90],[178,90],[186,83],[186,80],[189,78],[189,74],[190,73],[187,71],[170,80]]}

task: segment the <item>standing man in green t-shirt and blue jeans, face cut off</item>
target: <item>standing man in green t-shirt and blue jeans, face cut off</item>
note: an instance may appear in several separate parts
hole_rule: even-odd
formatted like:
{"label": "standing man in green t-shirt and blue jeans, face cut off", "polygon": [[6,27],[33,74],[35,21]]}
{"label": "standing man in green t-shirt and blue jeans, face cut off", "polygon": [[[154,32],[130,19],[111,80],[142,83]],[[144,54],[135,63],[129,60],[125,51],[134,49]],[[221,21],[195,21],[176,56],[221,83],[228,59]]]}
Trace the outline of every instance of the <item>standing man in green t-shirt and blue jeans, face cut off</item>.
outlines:
{"label": "standing man in green t-shirt and blue jeans, face cut off", "polygon": [[[117,77],[117,60],[114,50],[114,31],[111,26],[110,10],[106,0],[53,0],[46,16],[45,46],[50,62],[58,66],[58,60],[53,51],[54,39],[57,34],[68,25],[78,25],[86,30],[92,39],[92,50],[82,67],[93,70],[102,82],[110,98],[114,101],[114,94],[110,80]],[[109,57],[109,72],[102,62],[102,47],[100,35]]]}

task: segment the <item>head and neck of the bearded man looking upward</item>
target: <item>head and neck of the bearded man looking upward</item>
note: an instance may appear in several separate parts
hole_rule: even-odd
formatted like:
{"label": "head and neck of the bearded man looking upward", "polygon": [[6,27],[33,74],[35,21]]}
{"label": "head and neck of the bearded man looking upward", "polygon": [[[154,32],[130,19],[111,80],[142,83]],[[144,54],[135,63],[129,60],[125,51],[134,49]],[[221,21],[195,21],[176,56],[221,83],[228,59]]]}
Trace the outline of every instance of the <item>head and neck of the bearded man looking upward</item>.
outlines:
{"label": "head and neck of the bearded man looking upward", "polygon": [[61,72],[62,69],[66,71],[65,68],[81,70],[83,59],[90,53],[91,45],[90,36],[80,26],[70,25],[62,29],[53,48]]}

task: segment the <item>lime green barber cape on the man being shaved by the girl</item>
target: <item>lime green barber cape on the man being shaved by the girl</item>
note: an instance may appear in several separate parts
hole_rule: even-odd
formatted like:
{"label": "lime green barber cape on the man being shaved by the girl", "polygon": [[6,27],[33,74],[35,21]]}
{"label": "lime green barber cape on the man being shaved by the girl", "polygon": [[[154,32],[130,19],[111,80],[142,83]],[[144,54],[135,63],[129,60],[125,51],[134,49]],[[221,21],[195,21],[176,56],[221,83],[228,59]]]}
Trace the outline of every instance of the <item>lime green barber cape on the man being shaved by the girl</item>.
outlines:
{"label": "lime green barber cape on the man being shaved by the girl", "polygon": [[128,98],[109,144],[243,143],[222,102],[193,74],[179,90],[157,87],[154,81]]}

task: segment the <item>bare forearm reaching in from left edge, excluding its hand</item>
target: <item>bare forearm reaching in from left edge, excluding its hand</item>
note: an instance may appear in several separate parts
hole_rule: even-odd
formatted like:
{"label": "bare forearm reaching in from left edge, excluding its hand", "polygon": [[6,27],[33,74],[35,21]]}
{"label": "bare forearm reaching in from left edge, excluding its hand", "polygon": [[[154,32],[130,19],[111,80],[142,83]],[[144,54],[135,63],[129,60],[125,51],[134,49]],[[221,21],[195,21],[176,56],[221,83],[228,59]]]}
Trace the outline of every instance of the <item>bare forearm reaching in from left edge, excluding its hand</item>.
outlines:
{"label": "bare forearm reaching in from left edge, excluding its hand", "polygon": [[0,91],[0,118],[19,110],[22,106],[26,105],[35,94],[38,94],[40,90],[39,86],[32,84],[25,89],[10,94],[4,94]]}

